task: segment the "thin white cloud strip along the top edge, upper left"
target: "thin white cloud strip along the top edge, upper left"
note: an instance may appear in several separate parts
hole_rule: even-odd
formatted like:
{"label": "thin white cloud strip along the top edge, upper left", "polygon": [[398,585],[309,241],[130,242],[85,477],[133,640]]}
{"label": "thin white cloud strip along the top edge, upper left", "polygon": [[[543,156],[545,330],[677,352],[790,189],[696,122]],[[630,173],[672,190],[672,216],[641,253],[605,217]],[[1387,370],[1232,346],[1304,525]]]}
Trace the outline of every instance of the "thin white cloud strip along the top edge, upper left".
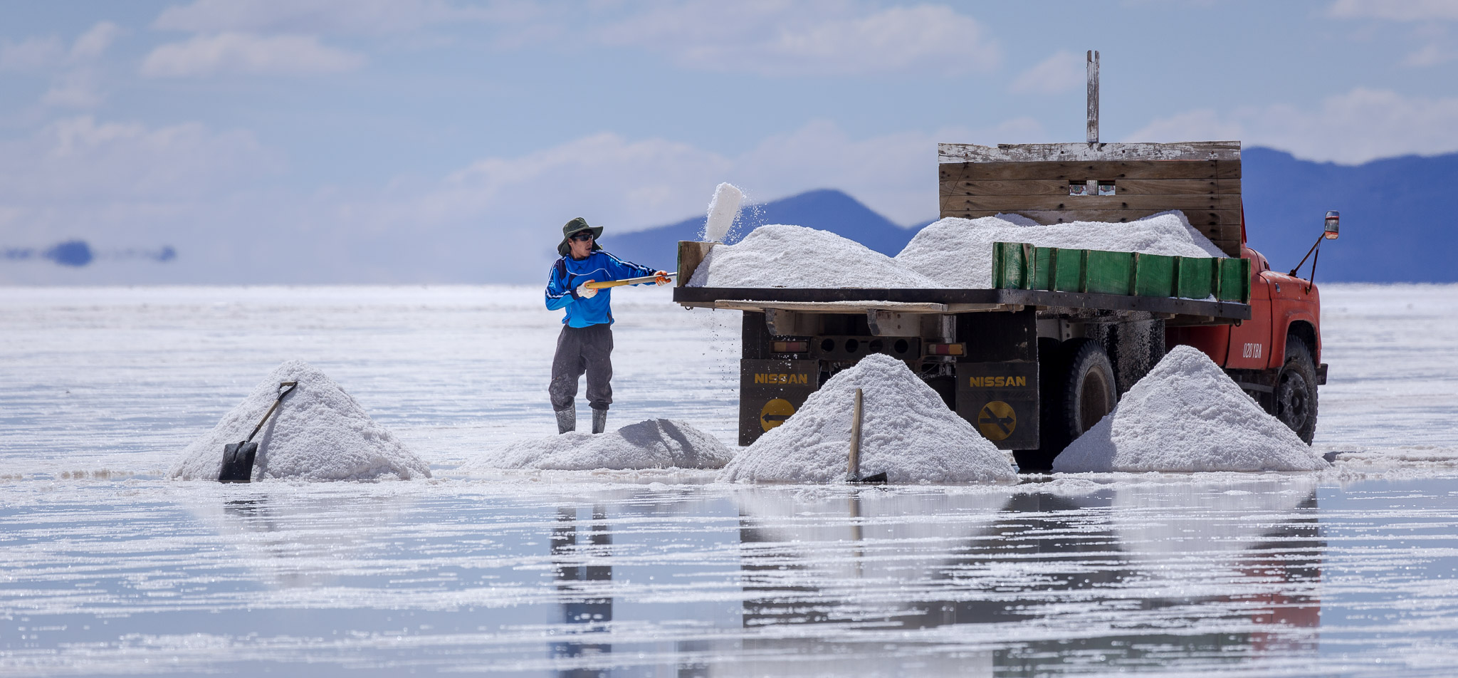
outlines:
{"label": "thin white cloud strip along the top edge, upper left", "polygon": [[443,0],[197,0],[165,9],[153,28],[195,34],[383,35],[434,23],[512,19],[535,12],[525,3],[464,7]]}

